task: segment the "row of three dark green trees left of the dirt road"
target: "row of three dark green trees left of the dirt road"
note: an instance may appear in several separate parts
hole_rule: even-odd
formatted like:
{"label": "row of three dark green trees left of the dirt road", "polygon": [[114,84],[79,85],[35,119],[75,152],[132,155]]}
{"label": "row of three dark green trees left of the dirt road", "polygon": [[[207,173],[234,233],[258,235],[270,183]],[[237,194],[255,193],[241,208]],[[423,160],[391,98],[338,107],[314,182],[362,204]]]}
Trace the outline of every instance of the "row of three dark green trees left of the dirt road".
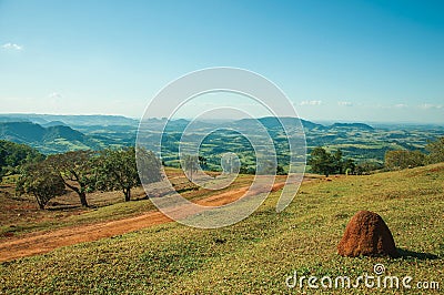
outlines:
{"label": "row of three dark green trees left of the dirt road", "polygon": [[[147,167],[140,175],[135,155]],[[16,190],[33,195],[40,208],[67,189],[78,194],[82,206],[89,206],[87,194],[94,191],[121,191],[128,202],[131,189],[162,180],[160,169],[159,159],[142,148],[67,152],[22,164]]]}

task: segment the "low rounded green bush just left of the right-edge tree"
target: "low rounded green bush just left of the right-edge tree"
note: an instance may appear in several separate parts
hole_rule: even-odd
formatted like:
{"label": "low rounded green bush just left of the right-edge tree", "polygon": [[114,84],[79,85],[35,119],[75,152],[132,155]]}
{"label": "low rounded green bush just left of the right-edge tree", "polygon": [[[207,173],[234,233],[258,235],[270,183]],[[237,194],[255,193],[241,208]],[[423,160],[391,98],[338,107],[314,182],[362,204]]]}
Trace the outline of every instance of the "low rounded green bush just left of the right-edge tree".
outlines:
{"label": "low rounded green bush just left of the right-edge tree", "polygon": [[425,163],[425,154],[420,151],[387,151],[384,163],[389,170],[422,166]]}

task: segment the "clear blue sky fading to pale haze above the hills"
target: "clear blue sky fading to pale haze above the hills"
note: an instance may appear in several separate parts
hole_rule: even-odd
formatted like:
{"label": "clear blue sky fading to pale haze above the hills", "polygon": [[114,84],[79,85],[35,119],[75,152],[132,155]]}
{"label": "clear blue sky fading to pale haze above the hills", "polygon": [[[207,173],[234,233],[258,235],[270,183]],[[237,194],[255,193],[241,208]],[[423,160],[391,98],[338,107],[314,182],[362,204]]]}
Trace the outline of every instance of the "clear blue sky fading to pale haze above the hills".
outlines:
{"label": "clear blue sky fading to pale haze above the hills", "polygon": [[443,1],[0,0],[0,112],[140,118],[172,80],[235,67],[304,119],[443,124]]}

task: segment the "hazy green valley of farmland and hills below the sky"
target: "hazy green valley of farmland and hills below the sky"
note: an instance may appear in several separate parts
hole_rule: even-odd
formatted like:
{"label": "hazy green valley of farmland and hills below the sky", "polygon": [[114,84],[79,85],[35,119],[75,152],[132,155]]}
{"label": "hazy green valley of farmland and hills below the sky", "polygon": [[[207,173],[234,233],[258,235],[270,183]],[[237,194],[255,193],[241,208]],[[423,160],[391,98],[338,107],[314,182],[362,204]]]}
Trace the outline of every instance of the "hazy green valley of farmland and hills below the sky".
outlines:
{"label": "hazy green valley of farmland and hills below the sky", "polygon": [[[27,116],[34,125],[32,129],[42,129],[37,123],[42,120],[48,124],[56,124],[42,141],[31,139],[36,132],[30,132],[30,122],[13,122],[18,120],[8,115],[0,115],[0,119],[12,120],[11,122],[0,122],[0,139],[14,142],[27,143],[37,148],[43,153],[58,153],[73,150],[103,148],[121,148],[134,145],[139,121],[124,116],[108,118],[103,115],[87,116],[51,116],[39,115],[38,118]],[[60,121],[50,121],[60,120]],[[296,119],[282,118],[287,120],[290,125],[297,125]],[[296,120],[296,121],[295,121]],[[69,122],[68,128],[62,121]],[[91,122],[94,122],[93,124]],[[98,124],[102,122],[102,124]],[[270,118],[259,119],[258,122],[264,124],[275,144],[278,161],[287,170],[289,146],[286,136],[282,126],[276,124],[275,120]],[[425,145],[430,141],[435,141],[444,135],[444,129],[434,124],[362,124],[362,123],[325,123],[317,124],[301,120],[304,126],[306,139],[306,152],[310,153],[315,146],[325,146],[329,151],[341,149],[345,157],[354,159],[357,163],[374,162],[381,164],[386,151],[391,150],[418,150],[424,152]],[[193,138],[204,135],[200,145],[200,153],[208,160],[208,170],[221,171],[220,160],[225,152],[239,154],[241,163],[245,170],[255,166],[254,151],[248,139],[232,130],[240,128],[245,130],[246,135],[254,134],[258,124],[250,120],[231,120],[226,122],[205,121],[194,122],[192,136],[182,139],[183,130],[189,121],[170,120],[167,129],[162,131],[164,120],[149,119],[141,122],[141,129],[144,131],[143,143],[149,150],[158,150],[161,135],[162,139],[162,160],[167,165],[179,166],[179,143],[186,145],[186,141],[193,141]],[[59,125],[57,125],[59,124]],[[27,130],[21,134],[17,129]],[[213,132],[213,130],[218,130]],[[20,136],[18,134],[20,133]],[[301,136],[300,136],[301,138]],[[301,138],[302,139],[302,138]],[[302,142],[301,142],[302,144]]]}

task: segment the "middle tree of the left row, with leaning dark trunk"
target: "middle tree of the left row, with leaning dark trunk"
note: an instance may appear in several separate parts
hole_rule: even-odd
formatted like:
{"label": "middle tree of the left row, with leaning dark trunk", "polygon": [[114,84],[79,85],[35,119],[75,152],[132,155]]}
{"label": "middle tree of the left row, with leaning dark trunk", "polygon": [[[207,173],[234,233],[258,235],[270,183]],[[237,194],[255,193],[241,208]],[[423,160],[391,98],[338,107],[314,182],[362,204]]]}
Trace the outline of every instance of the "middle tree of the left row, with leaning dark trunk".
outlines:
{"label": "middle tree of the left row, with leaning dark trunk", "polygon": [[97,183],[92,151],[75,151],[48,156],[46,163],[59,173],[69,189],[74,191],[82,206],[88,207],[87,192],[92,192]]}

